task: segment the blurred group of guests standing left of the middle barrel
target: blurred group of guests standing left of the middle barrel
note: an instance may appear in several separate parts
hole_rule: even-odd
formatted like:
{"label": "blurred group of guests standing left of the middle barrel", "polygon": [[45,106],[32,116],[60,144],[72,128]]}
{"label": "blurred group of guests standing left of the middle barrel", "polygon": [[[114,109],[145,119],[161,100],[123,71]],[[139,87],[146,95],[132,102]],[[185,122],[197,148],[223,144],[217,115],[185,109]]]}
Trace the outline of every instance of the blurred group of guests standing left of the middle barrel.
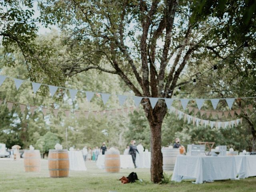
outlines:
{"label": "blurred group of guests standing left of the middle barrel", "polygon": [[96,146],[93,149],[90,147],[87,149],[87,146],[84,146],[84,148],[82,149],[84,161],[86,161],[86,160],[97,161],[99,154],[104,155],[106,150],[107,150],[107,147],[106,147],[105,142],[102,143],[102,146],[100,148],[98,146]]}

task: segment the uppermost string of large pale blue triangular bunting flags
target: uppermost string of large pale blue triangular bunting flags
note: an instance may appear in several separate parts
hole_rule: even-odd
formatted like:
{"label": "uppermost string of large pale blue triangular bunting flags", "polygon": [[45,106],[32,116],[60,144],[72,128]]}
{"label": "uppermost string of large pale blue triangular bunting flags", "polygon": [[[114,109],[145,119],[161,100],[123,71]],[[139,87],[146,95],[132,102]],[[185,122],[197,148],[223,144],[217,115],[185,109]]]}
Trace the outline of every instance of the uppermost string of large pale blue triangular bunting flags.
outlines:
{"label": "uppermost string of large pale blue triangular bunting flags", "polygon": [[[198,110],[200,110],[205,102],[205,100],[210,100],[212,103],[212,106],[214,108],[214,110],[216,110],[218,103],[220,100],[226,100],[226,103],[228,104],[228,107],[231,109],[232,105],[234,103],[234,101],[236,99],[250,99],[250,98],[256,98],[256,97],[238,97],[238,98],[202,98],[202,99],[198,99],[198,98],[186,98],[186,99],[182,99],[182,98],[172,98],[171,100],[169,98],[152,98],[152,97],[138,97],[138,96],[125,96],[125,95],[116,95],[116,94],[108,94],[108,93],[100,93],[100,92],[91,92],[91,91],[84,91],[84,90],[77,90],[77,89],[70,89],[70,88],[65,88],[65,87],[60,87],[60,86],[52,86],[52,85],[48,85],[48,84],[43,84],[43,83],[36,83],[36,82],[31,82],[28,80],[21,80],[21,79],[17,79],[17,78],[12,78],[12,77],[8,77],[8,76],[3,76],[0,75],[0,86],[3,84],[4,80],[6,80],[6,78],[10,78],[12,80],[14,80],[15,86],[17,88],[17,90],[20,88],[21,84],[23,82],[30,82],[32,84],[32,89],[33,92],[36,93],[38,91],[38,89],[40,88],[41,85],[44,86],[48,86],[49,91],[51,96],[54,96],[54,94],[56,93],[56,91],[58,90],[58,88],[61,89],[66,89],[69,90],[70,92],[70,98],[73,100],[76,97],[76,94],[79,92],[81,92],[82,94],[85,92],[86,93],[86,98],[88,100],[88,102],[91,101],[92,97],[94,96],[94,94],[98,93],[101,94],[102,96],[102,101],[104,104],[106,104],[106,102],[108,101],[110,96],[118,96],[120,105],[122,106],[126,100],[126,98],[128,97],[132,97],[134,99],[134,104],[136,107],[138,107],[138,105],[140,104],[142,98],[147,98],[150,100],[151,103],[151,107],[154,108],[155,105],[157,104],[158,99],[163,99],[166,102],[166,105],[168,108],[170,108],[170,106],[172,105],[172,102],[174,100],[180,100],[182,108],[186,109],[188,102],[190,100],[196,100],[196,104],[198,106]],[[206,113],[208,114],[208,113]],[[231,114],[232,115],[232,114]]]}

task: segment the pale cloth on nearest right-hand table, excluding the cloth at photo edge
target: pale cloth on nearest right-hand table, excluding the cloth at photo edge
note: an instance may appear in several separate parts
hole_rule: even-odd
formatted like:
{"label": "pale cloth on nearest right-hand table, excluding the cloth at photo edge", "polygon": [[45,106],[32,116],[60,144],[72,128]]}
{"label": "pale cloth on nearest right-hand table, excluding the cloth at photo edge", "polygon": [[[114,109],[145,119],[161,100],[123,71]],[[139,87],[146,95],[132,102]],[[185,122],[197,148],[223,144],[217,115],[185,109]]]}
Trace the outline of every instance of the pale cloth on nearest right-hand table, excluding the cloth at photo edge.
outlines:
{"label": "pale cloth on nearest right-hand table, excluding the cloth at photo edge", "polygon": [[203,181],[235,179],[237,174],[234,156],[184,156],[178,155],[172,181],[196,179],[196,184]]}

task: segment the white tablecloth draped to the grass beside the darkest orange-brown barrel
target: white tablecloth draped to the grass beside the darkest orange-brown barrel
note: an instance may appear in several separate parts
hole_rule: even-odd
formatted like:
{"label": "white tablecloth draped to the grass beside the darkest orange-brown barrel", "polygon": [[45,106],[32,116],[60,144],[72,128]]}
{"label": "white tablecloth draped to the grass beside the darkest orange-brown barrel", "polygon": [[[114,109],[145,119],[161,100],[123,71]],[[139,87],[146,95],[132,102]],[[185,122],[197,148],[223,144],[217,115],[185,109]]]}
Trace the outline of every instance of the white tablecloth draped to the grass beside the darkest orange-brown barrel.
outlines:
{"label": "white tablecloth draped to the grass beside the darkest orange-brown barrel", "polygon": [[68,151],[69,170],[86,171],[84,158],[81,151]]}

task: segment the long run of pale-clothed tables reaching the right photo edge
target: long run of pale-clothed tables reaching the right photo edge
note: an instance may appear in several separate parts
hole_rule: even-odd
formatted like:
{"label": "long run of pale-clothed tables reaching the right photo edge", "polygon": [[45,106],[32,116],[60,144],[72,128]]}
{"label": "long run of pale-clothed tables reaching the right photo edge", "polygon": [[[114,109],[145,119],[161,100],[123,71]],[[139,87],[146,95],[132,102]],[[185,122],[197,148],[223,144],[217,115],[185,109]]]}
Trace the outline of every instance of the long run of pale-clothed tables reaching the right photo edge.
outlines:
{"label": "long run of pale-clothed tables reaching the right photo edge", "polygon": [[[196,179],[204,181],[239,179],[256,176],[256,156],[184,156],[178,155],[172,181]],[[238,175],[238,178],[236,178]]]}

